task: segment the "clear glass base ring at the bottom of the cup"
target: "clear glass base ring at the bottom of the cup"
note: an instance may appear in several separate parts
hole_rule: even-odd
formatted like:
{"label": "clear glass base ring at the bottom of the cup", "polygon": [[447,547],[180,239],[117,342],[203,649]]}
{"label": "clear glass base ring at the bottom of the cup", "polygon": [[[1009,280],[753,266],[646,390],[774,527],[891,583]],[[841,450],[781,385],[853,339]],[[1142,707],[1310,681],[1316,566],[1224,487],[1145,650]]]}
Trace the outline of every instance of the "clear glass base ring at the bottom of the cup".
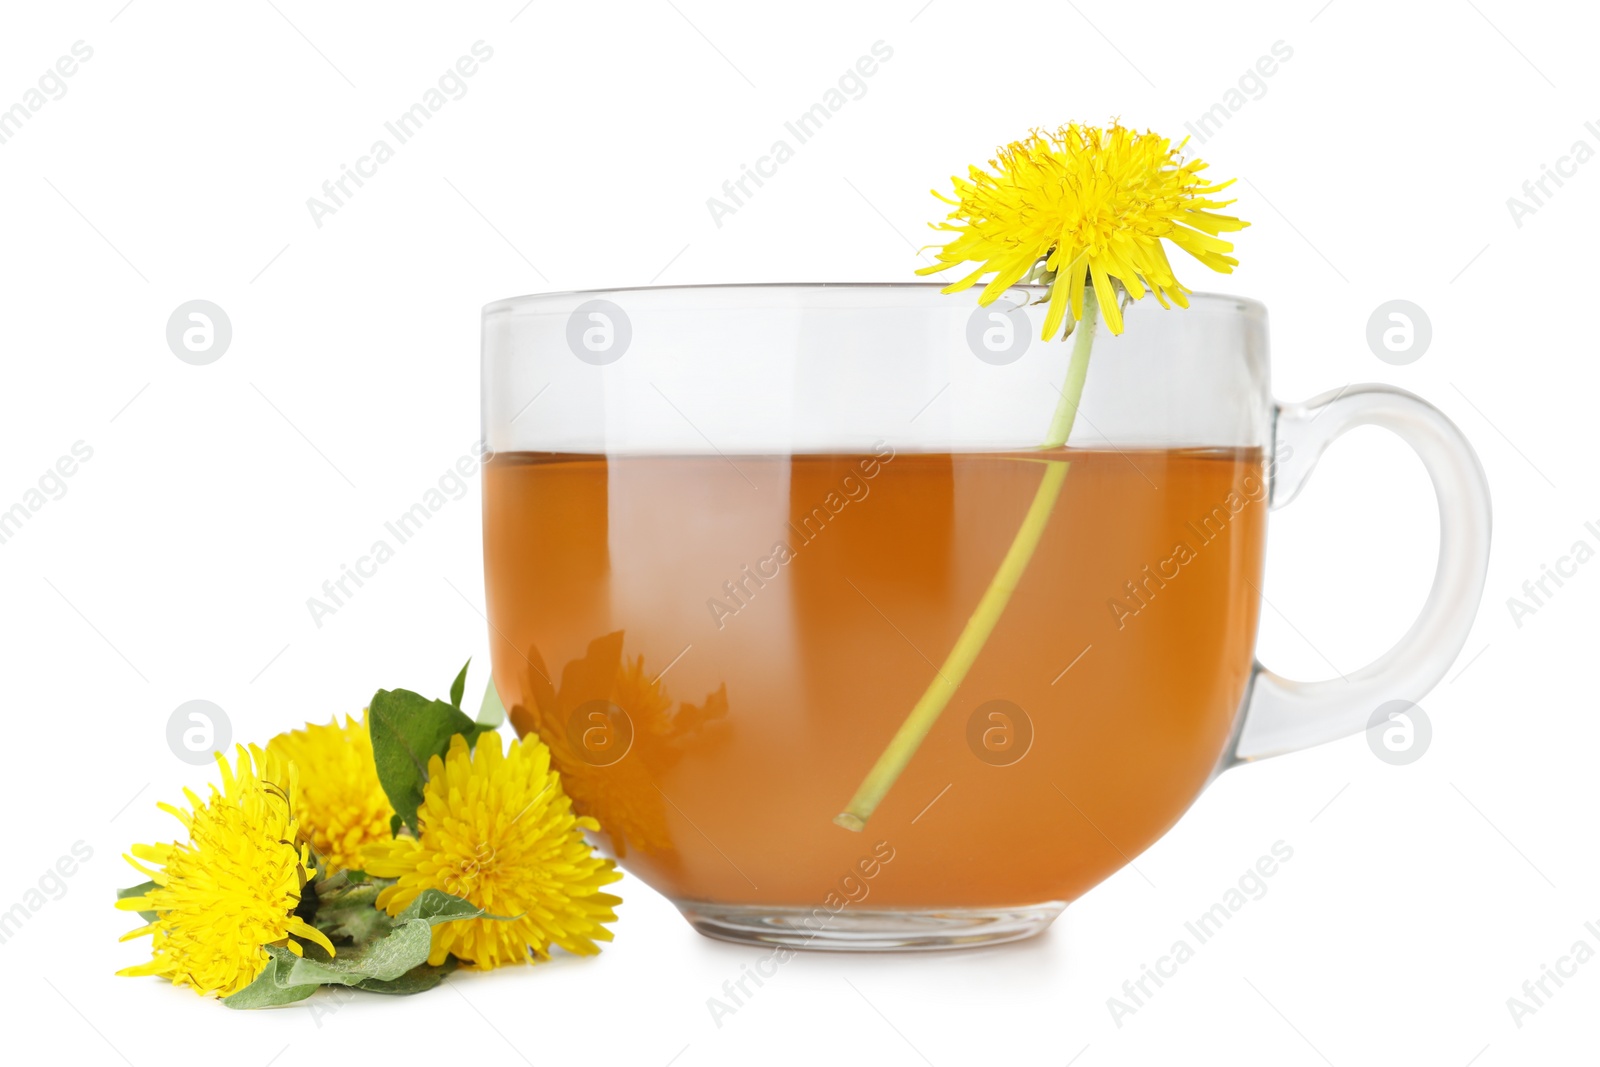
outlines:
{"label": "clear glass base ring at the bottom of the cup", "polygon": [[742,945],[787,945],[813,952],[926,952],[1022,941],[1045,931],[1066,901],[1019,907],[856,909],[683,901],[690,926]]}

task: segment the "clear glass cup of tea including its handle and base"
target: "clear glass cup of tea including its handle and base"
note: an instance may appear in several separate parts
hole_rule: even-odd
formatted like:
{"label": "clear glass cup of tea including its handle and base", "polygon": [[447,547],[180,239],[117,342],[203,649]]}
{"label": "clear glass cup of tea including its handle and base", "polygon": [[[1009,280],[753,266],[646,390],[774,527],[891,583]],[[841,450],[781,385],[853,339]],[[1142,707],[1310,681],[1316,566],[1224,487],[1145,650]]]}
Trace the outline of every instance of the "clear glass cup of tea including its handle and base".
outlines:
{"label": "clear glass cup of tea including its handle and base", "polygon": [[[1224,769],[1358,733],[1461,651],[1490,498],[1443,414],[1384,386],[1277,405],[1266,310],[1195,294],[1101,330],[1070,437],[1042,448],[1072,344],[1038,339],[1038,298],[485,307],[496,686],[701,933],[1026,937]],[[1363,424],[1434,482],[1434,587],[1384,656],[1293,681],[1253,656],[1267,512]]]}

